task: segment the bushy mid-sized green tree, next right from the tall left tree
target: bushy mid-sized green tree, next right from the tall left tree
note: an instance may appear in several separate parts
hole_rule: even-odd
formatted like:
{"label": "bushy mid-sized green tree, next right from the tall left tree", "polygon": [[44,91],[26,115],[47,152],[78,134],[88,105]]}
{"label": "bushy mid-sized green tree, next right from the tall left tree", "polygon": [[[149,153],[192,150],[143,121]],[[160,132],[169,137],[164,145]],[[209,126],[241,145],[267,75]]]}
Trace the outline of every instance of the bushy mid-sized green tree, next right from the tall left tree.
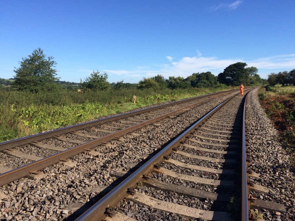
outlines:
{"label": "bushy mid-sized green tree, next right from the tall left tree", "polygon": [[82,83],[83,90],[99,91],[106,90],[110,87],[109,82],[107,81],[108,74],[101,74],[99,71],[93,71],[90,74],[90,77],[86,77]]}

